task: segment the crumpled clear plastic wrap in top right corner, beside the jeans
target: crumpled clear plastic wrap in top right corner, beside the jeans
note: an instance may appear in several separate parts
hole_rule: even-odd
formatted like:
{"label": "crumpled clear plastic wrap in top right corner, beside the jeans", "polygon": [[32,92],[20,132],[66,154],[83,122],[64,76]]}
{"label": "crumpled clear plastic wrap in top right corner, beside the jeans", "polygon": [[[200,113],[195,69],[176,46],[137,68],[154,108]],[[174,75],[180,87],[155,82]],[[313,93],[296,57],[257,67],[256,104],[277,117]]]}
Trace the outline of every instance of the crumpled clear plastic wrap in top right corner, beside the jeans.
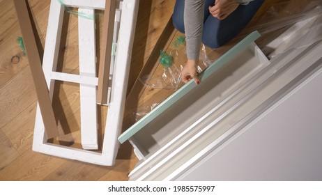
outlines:
{"label": "crumpled clear plastic wrap in top right corner, beside the jeans", "polygon": [[[278,16],[278,17],[277,17]],[[275,17],[276,20],[265,17]],[[322,39],[322,1],[284,1],[271,6],[256,26],[262,36],[282,31],[278,38],[263,48],[268,59],[291,49],[305,47]],[[269,22],[263,22],[268,20]],[[269,51],[270,50],[270,51]]]}

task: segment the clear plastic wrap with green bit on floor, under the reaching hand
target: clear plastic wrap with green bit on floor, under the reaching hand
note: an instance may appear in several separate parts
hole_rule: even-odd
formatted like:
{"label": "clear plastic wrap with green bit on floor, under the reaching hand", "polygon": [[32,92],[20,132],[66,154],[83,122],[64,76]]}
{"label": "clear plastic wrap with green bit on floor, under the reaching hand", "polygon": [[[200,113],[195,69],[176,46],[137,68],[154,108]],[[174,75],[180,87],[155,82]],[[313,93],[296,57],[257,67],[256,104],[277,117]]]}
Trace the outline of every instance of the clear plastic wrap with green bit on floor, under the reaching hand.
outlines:
{"label": "clear plastic wrap with green bit on floor, under the reaching hand", "polygon": [[[170,91],[176,91],[178,88],[183,86],[181,81],[181,71],[183,70],[183,65],[187,61],[185,53],[185,37],[177,36],[174,41],[167,49],[167,52],[160,52],[160,60],[157,70],[155,70],[153,75],[144,75],[139,77],[144,86],[153,89],[166,89]],[[200,73],[205,70],[211,63],[212,60],[208,58],[207,47],[201,45],[199,54],[199,65],[197,67],[197,72]],[[150,111],[157,107],[163,100],[153,100],[153,102],[145,102],[144,105],[137,107],[131,112],[131,119],[133,123],[136,123],[142,117],[146,116]]]}

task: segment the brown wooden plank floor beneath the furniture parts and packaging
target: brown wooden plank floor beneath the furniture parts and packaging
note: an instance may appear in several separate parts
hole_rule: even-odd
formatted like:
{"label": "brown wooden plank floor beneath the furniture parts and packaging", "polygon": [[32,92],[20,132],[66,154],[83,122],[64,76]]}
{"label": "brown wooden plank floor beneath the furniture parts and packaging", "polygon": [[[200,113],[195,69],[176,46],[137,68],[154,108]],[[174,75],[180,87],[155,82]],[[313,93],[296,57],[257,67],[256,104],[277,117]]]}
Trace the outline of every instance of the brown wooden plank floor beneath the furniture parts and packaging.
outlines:
{"label": "brown wooden plank floor beneath the furniture parts and packaging", "polygon": [[[309,0],[296,1],[299,1],[298,7],[300,7],[301,2],[305,4]],[[171,17],[174,2],[173,0],[140,2],[128,92],[135,84],[136,79],[141,76],[139,72],[144,67],[155,42]],[[284,4],[279,4],[278,7],[273,6],[274,2],[277,1],[264,3],[259,13],[240,33],[240,36],[220,49],[208,49],[208,58],[214,61],[256,28],[264,32],[262,38],[257,41],[261,48],[265,47],[266,43],[273,40],[279,33],[282,33],[287,26],[278,28],[278,30],[270,29],[269,26],[276,25],[274,21],[277,19],[279,19],[279,23],[283,22],[280,20],[283,18],[289,20],[289,15],[296,15],[300,11],[298,7],[292,6],[291,1],[284,0]],[[41,45],[44,46],[49,0],[29,0],[29,4]],[[281,5],[284,7],[281,8]],[[98,15],[96,22],[98,24],[97,37],[99,37],[102,24],[100,15]],[[268,25],[269,22],[273,23]],[[61,40],[59,71],[78,74],[77,16],[66,14],[63,25],[63,37],[65,38]],[[121,145],[116,164],[112,167],[97,166],[32,151],[37,98],[28,59],[17,43],[17,38],[22,35],[11,0],[0,1],[0,26],[0,180],[128,180],[128,173],[137,162],[137,158],[132,152],[132,146],[128,142]],[[177,33],[175,38],[178,36],[181,36],[181,33]],[[171,48],[169,49],[171,50]],[[17,59],[19,61],[15,61]],[[184,61],[180,63],[184,63]],[[162,70],[162,67],[158,68],[154,74],[160,74]],[[145,88],[144,93],[139,97],[139,102],[128,101],[126,104],[135,104],[135,107],[151,107],[153,103],[160,103],[174,91],[174,88]],[[78,84],[56,82],[53,107],[59,130],[65,132],[66,136],[51,141],[80,148]],[[98,115],[99,132],[103,135],[107,107],[98,107]],[[133,107],[128,106],[125,109],[124,124],[126,125],[123,125],[124,129],[134,123],[132,115]]]}

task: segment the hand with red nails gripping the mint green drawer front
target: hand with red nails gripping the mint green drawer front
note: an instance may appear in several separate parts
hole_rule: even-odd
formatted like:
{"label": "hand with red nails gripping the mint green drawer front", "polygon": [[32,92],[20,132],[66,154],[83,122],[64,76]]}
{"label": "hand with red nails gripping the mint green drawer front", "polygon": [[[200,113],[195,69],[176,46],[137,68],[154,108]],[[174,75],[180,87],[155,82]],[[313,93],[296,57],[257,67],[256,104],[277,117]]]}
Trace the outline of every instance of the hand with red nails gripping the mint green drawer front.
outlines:
{"label": "hand with red nails gripping the mint green drawer front", "polygon": [[196,84],[200,84],[200,80],[197,77],[197,64],[197,60],[190,59],[188,59],[187,63],[185,63],[185,66],[181,72],[181,79],[185,84],[191,79],[194,79]]}

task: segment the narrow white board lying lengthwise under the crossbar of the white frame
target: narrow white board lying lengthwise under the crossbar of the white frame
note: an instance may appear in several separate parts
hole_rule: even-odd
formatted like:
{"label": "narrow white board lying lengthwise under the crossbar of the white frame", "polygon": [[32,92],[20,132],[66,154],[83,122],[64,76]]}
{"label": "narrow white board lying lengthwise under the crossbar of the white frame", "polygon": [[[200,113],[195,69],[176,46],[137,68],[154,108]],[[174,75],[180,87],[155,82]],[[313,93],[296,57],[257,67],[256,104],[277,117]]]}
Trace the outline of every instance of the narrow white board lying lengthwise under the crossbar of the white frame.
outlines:
{"label": "narrow white board lying lengthwise under the crossbar of the white frame", "polygon": [[[79,8],[78,13],[94,15],[93,9]],[[95,21],[78,17],[79,75],[96,77]],[[81,139],[86,150],[98,149],[96,86],[79,84]]]}

